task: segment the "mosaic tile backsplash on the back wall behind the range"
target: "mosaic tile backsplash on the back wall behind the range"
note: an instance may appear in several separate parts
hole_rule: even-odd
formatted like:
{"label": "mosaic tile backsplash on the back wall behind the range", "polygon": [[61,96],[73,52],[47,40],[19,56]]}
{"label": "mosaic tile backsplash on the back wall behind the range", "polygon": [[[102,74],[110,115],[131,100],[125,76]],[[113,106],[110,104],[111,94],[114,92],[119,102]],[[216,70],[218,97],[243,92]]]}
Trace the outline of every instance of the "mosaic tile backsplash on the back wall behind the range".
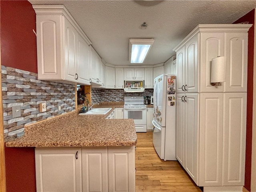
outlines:
{"label": "mosaic tile backsplash on the back wall behind the range", "polygon": [[[97,90],[97,91],[95,91]],[[152,96],[154,89],[145,89],[142,93],[125,93],[123,89],[97,89],[92,88],[93,103],[103,102],[124,102],[124,97],[128,96]]]}

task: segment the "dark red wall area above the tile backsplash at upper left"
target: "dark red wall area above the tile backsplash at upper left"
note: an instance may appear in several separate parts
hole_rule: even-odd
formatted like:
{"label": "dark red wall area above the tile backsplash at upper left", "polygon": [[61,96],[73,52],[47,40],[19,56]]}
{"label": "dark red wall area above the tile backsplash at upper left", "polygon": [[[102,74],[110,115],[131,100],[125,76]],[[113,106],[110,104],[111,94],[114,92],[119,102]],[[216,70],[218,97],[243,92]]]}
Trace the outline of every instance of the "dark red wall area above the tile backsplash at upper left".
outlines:
{"label": "dark red wall area above the tile backsplash at upper left", "polygon": [[0,0],[2,65],[37,73],[36,13],[26,0]]}

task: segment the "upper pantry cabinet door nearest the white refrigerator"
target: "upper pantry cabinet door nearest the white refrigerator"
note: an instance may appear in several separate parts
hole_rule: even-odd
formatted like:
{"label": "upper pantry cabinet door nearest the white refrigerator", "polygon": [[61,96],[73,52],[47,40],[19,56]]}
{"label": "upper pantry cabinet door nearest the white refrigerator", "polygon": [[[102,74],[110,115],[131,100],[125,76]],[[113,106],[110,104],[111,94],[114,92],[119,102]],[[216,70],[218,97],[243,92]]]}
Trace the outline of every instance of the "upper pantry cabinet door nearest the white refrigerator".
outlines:
{"label": "upper pantry cabinet door nearest the white refrigerator", "polygon": [[185,84],[185,46],[183,46],[177,52],[177,93],[184,93],[184,84]]}

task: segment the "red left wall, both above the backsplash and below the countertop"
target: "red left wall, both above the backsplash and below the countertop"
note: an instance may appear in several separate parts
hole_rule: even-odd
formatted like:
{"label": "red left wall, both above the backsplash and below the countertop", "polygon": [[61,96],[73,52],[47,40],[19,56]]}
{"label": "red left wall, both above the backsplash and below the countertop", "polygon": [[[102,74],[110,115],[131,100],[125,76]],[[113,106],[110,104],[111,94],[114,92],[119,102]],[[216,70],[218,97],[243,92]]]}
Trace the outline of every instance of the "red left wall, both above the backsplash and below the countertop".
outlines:
{"label": "red left wall, both above the backsplash and below the countertop", "polygon": [[[37,73],[36,14],[28,1],[0,0],[1,64]],[[35,192],[34,148],[5,148],[7,192]]]}

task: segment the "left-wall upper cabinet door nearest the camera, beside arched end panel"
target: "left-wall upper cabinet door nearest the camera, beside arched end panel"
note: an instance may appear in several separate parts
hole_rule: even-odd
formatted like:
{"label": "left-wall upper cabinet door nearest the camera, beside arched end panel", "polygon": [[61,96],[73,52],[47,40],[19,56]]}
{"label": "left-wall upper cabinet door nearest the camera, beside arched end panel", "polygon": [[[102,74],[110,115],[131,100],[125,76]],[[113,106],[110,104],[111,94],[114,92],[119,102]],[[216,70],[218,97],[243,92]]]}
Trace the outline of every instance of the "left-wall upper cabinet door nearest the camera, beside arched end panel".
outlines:
{"label": "left-wall upper cabinet door nearest the camera, beside arched end panel", "polygon": [[76,82],[76,29],[65,19],[65,70],[66,80]]}

